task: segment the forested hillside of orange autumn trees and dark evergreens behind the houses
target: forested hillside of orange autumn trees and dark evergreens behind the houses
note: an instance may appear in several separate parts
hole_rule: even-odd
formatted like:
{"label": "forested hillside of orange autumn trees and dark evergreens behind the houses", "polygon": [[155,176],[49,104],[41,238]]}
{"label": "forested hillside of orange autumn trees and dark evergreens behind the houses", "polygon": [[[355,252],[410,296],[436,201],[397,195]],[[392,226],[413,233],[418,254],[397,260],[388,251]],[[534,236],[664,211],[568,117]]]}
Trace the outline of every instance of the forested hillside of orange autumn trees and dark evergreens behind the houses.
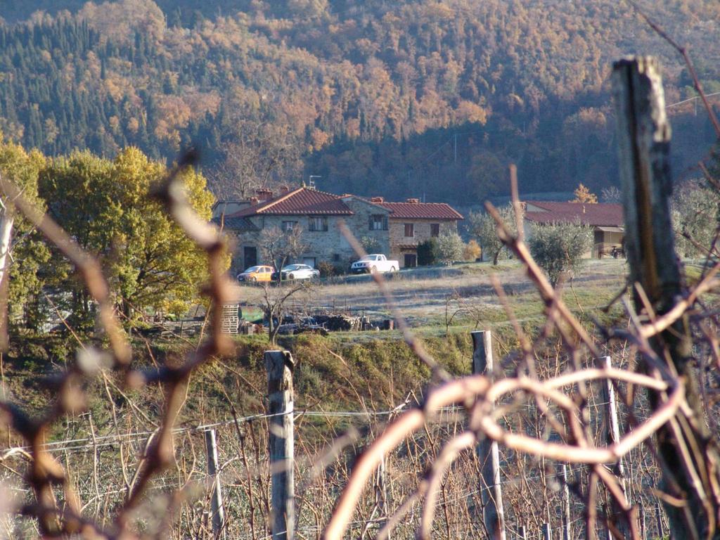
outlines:
{"label": "forested hillside of orange autumn trees and dark evergreens behind the houses", "polygon": [[[137,145],[172,160],[195,145],[225,195],[313,174],[333,192],[467,202],[503,194],[510,161],[525,192],[611,184],[607,76],[621,55],[661,55],[668,102],[694,95],[615,0],[199,5],[5,0],[1,129],[50,155]],[[644,5],[720,89],[719,4]],[[672,110],[686,171],[711,129],[692,104]]]}

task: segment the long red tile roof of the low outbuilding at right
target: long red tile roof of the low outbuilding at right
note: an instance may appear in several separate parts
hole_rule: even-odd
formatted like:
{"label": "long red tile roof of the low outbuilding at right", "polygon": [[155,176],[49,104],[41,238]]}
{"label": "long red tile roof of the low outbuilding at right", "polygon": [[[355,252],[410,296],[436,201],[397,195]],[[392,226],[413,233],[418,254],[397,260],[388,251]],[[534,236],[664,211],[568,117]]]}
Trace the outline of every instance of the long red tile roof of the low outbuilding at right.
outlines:
{"label": "long red tile roof of the low outbuilding at right", "polygon": [[543,211],[525,212],[525,219],[536,223],[570,222],[579,220],[592,227],[623,227],[622,204],[586,204],[582,202],[527,201]]}

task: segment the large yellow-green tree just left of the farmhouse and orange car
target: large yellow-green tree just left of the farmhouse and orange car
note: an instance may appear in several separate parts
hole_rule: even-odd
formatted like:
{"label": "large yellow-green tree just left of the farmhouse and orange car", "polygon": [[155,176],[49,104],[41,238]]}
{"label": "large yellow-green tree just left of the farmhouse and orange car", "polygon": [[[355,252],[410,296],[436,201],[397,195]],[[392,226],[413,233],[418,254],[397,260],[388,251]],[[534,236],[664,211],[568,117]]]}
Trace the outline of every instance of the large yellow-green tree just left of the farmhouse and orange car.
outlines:
{"label": "large yellow-green tree just left of the farmhouse and orange car", "polygon": [[[207,275],[202,253],[150,198],[153,184],[167,173],[161,163],[127,148],[114,161],[75,152],[51,161],[40,175],[48,212],[99,258],[127,316],[145,308],[182,312]],[[210,219],[213,197],[202,174],[187,170],[182,179],[194,210]],[[54,264],[70,274],[58,253]],[[92,305],[85,287],[70,283],[73,310],[89,320]]]}

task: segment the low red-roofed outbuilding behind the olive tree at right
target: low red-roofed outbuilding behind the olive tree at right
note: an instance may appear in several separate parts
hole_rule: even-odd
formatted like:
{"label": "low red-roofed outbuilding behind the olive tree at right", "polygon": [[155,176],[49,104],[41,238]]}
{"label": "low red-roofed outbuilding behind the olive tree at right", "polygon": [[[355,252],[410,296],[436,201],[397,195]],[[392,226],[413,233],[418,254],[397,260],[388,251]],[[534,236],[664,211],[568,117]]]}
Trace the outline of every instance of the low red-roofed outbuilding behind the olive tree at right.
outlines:
{"label": "low red-roofed outbuilding behind the olive tree at right", "polygon": [[525,235],[531,235],[531,223],[578,222],[593,228],[593,248],[586,258],[624,257],[625,223],[622,204],[584,202],[523,202]]}

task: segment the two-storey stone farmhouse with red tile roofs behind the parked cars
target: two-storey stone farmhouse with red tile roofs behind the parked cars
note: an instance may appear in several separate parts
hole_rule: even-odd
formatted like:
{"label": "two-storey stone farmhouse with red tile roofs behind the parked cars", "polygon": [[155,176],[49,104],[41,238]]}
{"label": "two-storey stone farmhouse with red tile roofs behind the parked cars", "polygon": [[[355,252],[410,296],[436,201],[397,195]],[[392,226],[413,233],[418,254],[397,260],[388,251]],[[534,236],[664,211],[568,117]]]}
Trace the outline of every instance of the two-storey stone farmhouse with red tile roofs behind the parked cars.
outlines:
{"label": "two-storey stone farmhouse with red tile roofs behind the parked cars", "polygon": [[329,262],[343,266],[356,258],[341,233],[344,222],[356,238],[377,240],[380,251],[397,258],[400,267],[418,264],[418,243],[447,230],[457,230],[463,217],[449,204],[424,203],[418,199],[385,202],[352,194],[336,195],[302,186],[279,194],[263,189],[248,201],[220,201],[213,221],[222,225],[235,241],[233,271],[263,264],[263,231],[271,228],[302,230],[307,246],[297,261],[310,266]]}

